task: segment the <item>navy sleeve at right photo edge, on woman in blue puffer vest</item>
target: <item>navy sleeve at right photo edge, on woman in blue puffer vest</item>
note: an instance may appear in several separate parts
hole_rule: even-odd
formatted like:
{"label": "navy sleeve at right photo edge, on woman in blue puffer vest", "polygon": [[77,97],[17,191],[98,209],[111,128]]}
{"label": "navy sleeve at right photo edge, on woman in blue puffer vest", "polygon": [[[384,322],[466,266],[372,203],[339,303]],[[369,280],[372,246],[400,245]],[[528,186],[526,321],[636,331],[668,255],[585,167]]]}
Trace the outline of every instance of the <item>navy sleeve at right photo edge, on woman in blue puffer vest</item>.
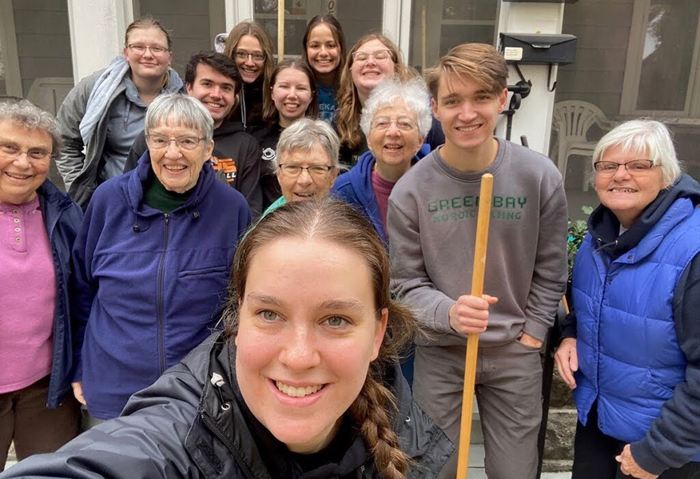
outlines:
{"label": "navy sleeve at right photo edge, on woman in blue puffer vest", "polygon": [[631,444],[632,457],[645,471],[660,474],[680,467],[700,452],[700,255],[685,269],[673,294],[678,345],[685,353],[685,382],[661,408],[647,435]]}

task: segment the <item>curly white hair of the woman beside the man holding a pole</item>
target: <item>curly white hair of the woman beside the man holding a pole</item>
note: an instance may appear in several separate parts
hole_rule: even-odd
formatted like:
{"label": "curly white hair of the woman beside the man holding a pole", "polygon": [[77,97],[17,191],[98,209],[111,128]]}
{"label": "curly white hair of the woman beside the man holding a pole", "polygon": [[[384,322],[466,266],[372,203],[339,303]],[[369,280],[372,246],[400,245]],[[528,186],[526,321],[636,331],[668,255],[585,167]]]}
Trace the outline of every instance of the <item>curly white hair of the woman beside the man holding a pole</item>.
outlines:
{"label": "curly white hair of the woman beside the man holding a pole", "polygon": [[416,114],[418,131],[425,138],[433,126],[433,111],[430,108],[428,87],[422,78],[416,77],[407,81],[387,78],[374,87],[370,97],[365,101],[360,117],[360,128],[365,136],[372,129],[372,118],[379,108],[393,106],[397,100],[403,100],[406,108]]}

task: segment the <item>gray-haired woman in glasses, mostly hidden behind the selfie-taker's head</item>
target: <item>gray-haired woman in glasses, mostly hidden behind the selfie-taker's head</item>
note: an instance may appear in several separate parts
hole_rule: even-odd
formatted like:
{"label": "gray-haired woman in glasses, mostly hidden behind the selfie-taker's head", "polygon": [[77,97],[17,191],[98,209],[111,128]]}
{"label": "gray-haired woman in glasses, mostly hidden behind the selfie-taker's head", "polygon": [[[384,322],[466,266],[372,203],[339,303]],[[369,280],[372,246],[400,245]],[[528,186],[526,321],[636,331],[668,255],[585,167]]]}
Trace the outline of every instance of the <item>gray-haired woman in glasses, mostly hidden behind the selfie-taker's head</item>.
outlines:
{"label": "gray-haired woman in glasses, mostly hidden behind the selfie-taker's head", "polygon": [[290,201],[324,199],[338,176],[340,142],[323,120],[301,118],[279,136],[276,172],[282,196],[263,216]]}

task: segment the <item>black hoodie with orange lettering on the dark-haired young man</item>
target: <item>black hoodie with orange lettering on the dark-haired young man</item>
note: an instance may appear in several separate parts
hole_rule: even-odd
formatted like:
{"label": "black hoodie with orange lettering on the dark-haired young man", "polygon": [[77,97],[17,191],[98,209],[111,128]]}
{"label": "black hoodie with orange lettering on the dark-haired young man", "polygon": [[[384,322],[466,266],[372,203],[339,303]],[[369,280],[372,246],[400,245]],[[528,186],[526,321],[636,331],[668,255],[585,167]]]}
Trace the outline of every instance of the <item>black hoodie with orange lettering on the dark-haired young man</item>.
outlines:
{"label": "black hoodie with orange lettering on the dark-haired young man", "polygon": [[[127,157],[124,173],[136,168],[139,158],[148,150],[146,132],[142,131],[134,141]],[[260,189],[260,146],[247,134],[240,122],[227,120],[214,130],[214,151],[211,163],[222,180],[241,192],[248,201],[253,217],[262,213]]]}

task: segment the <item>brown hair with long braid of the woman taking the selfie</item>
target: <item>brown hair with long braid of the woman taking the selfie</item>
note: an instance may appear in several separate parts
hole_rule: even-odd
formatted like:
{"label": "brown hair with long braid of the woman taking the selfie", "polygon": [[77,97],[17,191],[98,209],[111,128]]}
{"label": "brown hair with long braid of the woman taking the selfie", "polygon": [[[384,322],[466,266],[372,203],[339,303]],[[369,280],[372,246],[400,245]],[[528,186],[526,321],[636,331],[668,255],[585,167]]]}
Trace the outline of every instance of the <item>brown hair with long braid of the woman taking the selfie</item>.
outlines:
{"label": "brown hair with long braid of the woman taking the selfie", "polygon": [[[370,269],[374,307],[388,309],[384,341],[377,359],[370,363],[365,384],[348,413],[357,425],[367,450],[381,476],[404,479],[411,459],[400,448],[399,438],[391,429],[398,413],[396,398],[384,377],[398,363],[400,352],[419,332],[415,317],[402,303],[389,295],[389,258],[377,231],[355,208],[341,201],[293,201],[265,216],[248,231],[238,245],[229,284],[229,299],[223,313],[226,331],[237,334],[237,308],[246,291],[246,278],[255,253],[279,238],[322,238],[357,252]],[[379,320],[379,313],[377,313]]]}

